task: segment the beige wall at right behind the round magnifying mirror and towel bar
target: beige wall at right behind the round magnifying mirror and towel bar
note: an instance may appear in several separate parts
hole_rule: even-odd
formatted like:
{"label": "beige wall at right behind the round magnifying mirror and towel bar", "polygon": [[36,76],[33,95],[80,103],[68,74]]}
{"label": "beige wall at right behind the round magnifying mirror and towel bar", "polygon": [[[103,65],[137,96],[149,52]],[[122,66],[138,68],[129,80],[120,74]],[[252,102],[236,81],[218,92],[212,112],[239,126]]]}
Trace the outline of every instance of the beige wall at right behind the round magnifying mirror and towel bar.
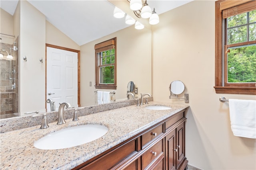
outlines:
{"label": "beige wall at right behind the round magnifying mirror and towel bar", "polygon": [[255,100],[256,96],[216,94],[213,88],[214,10],[213,0],[196,0],[160,15],[152,33],[154,100],[184,103],[168,98],[170,83],[184,82],[190,100],[186,115],[189,164],[205,170],[255,170],[256,140],[232,134],[228,102],[219,98]]}

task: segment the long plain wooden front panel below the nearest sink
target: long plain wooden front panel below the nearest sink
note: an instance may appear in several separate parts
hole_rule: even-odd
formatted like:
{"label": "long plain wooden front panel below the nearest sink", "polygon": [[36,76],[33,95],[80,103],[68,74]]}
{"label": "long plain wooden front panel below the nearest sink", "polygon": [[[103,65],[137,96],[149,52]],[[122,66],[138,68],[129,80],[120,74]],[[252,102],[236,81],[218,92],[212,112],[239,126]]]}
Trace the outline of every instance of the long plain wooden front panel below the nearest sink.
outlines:
{"label": "long plain wooden front panel below the nearest sink", "polygon": [[109,169],[134,152],[136,152],[136,140],[130,141],[112,150],[90,164],[82,167],[80,170],[100,170],[103,167],[104,169]]}

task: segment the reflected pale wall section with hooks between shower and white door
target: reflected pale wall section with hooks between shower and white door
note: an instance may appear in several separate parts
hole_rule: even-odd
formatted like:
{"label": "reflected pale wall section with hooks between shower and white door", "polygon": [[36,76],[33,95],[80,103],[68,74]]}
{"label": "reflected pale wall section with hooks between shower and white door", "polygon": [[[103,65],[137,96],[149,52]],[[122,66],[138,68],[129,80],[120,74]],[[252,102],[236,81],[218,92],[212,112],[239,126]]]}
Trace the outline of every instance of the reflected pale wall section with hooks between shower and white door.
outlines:
{"label": "reflected pale wall section with hooks between shower and white door", "polygon": [[[45,16],[27,1],[20,3],[20,113],[45,112]],[[26,55],[27,61],[22,58]],[[36,102],[35,102],[36,101]]]}

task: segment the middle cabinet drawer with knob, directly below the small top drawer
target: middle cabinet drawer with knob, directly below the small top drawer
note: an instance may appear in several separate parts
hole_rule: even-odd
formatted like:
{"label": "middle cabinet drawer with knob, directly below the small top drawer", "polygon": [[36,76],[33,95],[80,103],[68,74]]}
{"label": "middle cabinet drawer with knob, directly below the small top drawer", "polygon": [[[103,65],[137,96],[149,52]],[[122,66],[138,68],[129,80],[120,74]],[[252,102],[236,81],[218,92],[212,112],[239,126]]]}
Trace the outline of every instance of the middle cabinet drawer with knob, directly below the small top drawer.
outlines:
{"label": "middle cabinet drawer with knob, directly below the small top drawer", "polygon": [[153,145],[144,154],[142,154],[142,169],[145,169],[152,162],[161,156],[164,156],[164,140],[160,140],[158,143]]}

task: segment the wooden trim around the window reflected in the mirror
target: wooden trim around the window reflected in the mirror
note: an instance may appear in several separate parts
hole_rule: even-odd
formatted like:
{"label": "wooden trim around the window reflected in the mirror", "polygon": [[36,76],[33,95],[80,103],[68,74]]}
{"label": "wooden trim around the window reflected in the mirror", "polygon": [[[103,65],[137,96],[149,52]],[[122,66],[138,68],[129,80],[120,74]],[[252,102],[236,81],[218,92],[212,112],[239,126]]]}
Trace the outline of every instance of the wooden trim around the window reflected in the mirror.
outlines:
{"label": "wooden trim around the window reflected in the mirror", "polygon": [[[115,38],[112,38],[112,39],[109,39],[107,41],[104,41],[102,43],[99,43],[99,44],[96,44],[94,46],[94,49],[95,49],[95,88],[96,89],[110,89],[110,90],[116,90],[116,37]],[[99,67],[98,67],[98,57],[97,57],[97,53],[100,52],[100,51],[105,51],[106,50],[106,46],[109,46],[109,45],[113,45],[114,49],[115,49],[115,64],[114,64],[114,84],[100,84],[99,83]]]}

